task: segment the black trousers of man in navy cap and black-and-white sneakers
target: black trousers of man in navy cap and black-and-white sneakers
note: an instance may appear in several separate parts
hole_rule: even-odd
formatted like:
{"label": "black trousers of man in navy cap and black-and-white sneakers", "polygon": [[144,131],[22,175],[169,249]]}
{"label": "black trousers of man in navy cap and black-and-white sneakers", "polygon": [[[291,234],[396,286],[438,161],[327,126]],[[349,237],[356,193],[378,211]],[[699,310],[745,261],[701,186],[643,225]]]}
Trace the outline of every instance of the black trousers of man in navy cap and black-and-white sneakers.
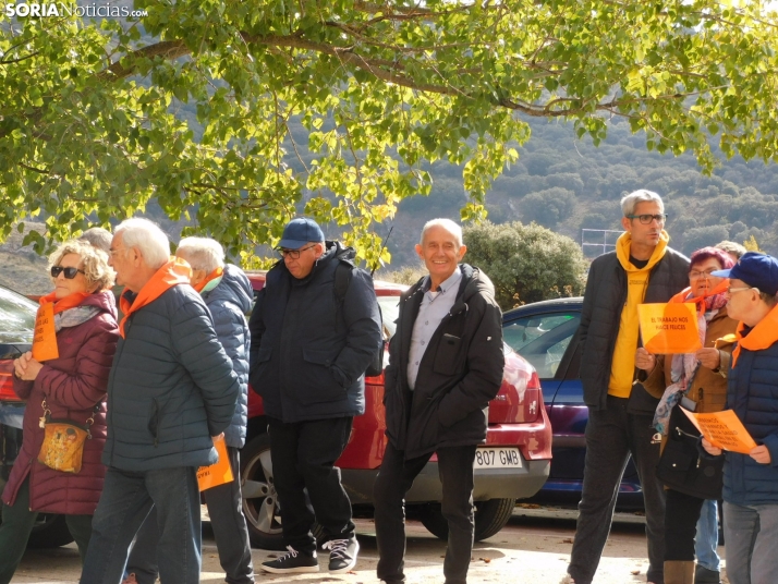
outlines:
{"label": "black trousers of man in navy cap and black-and-white sneakers", "polygon": [[[297,551],[313,553],[314,521],[327,539],[353,537],[351,501],[335,466],[349,443],[352,417],[284,424],[269,417],[272,474],[281,506],[283,540]],[[307,490],[307,496],[306,496]]]}

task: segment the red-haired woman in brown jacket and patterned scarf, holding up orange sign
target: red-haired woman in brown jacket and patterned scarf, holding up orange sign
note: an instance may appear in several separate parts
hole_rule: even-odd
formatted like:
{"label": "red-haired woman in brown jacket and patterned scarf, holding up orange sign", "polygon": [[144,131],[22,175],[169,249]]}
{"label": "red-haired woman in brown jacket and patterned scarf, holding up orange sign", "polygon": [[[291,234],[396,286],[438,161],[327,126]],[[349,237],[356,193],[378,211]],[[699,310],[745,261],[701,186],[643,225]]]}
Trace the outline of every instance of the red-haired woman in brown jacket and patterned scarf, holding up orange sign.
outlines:
{"label": "red-haired woman in brown jacket and patterned scarf, holding up orange sign", "polygon": [[[697,413],[719,412],[727,400],[727,372],[732,342],[722,338],[732,336],[738,321],[727,314],[727,287],[729,280],[712,276],[713,271],[732,267],[732,258],[715,247],[703,247],[692,254],[689,266],[689,288],[679,292],[670,302],[693,302],[697,306],[697,326],[703,348],[696,353],[678,355],[652,355],[639,349],[635,366],[647,374],[643,387],[660,398],[654,418],[662,435],[662,448],[668,438],[669,418],[673,407],[681,402]],[[717,342],[718,341],[718,342]],[[680,417],[686,435],[700,436],[691,422]],[[681,427],[678,424],[678,427]],[[696,442],[691,441],[696,457]],[[720,498],[720,495],[719,495]],[[694,497],[690,492],[667,489],[665,513],[665,584],[720,582],[716,553],[718,528],[715,514],[716,501]],[[697,521],[702,516],[701,530]],[[694,567],[695,532],[698,563]]]}

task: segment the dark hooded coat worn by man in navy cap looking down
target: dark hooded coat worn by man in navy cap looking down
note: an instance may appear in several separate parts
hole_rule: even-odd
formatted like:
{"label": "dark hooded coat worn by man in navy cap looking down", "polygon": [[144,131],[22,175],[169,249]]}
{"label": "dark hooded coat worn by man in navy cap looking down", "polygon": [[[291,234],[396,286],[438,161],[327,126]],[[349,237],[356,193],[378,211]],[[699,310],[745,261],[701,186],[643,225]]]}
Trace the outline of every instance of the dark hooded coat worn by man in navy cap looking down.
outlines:
{"label": "dark hooded coat worn by man in navy cap looking down", "polygon": [[353,250],[327,242],[305,278],[281,260],[267,273],[248,320],[251,384],[265,413],[284,423],[365,412],[364,373],[380,349],[381,319],[373,280],[352,272],[343,302],[335,292],[337,256]]}

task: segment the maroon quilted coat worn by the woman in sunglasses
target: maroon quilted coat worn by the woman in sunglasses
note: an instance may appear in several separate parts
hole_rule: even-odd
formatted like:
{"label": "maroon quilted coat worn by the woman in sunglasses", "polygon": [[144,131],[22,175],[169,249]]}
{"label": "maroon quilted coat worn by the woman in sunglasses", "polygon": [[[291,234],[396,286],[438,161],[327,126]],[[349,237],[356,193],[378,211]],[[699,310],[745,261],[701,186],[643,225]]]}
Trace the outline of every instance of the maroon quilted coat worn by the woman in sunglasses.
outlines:
{"label": "maroon quilted coat worn by the woman in sunglasses", "polygon": [[[106,467],[100,462],[106,443],[106,387],[119,339],[117,306],[110,291],[88,296],[82,306],[97,306],[100,313],[76,327],[57,333],[60,356],[44,362],[35,381],[14,377],[13,389],[27,400],[24,412],[24,440],[2,494],[5,504],[16,500],[19,487],[29,474],[29,508],[46,513],[92,515],[102,491]],[[81,472],[53,471],[38,462],[44,441],[39,418],[41,402],[51,410],[52,418],[84,424],[95,404],[101,403],[86,440]]]}

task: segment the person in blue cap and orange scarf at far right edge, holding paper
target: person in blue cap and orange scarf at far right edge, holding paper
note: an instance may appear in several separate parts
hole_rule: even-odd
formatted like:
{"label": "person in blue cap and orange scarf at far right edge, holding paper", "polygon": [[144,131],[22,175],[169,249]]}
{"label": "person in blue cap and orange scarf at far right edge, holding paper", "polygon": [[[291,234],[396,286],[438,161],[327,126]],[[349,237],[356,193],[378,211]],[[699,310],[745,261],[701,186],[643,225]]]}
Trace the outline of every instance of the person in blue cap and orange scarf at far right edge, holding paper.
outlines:
{"label": "person in blue cap and orange scarf at far right edge, holding paper", "polygon": [[734,411],[756,447],[724,455],[724,533],[730,584],[768,584],[778,573],[778,259],[749,252],[729,278],[727,311],[740,320],[727,388]]}

